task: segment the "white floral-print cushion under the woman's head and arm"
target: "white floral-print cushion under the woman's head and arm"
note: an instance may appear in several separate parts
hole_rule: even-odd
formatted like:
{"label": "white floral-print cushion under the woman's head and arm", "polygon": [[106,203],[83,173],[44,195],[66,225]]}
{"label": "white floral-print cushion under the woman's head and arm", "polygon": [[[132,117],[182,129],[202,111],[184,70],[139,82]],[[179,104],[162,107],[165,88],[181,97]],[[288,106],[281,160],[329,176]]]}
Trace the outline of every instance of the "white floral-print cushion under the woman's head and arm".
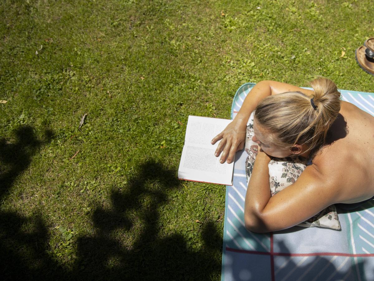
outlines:
{"label": "white floral-print cushion under the woman's head and arm", "polygon": [[[252,141],[252,137],[254,135],[253,112],[251,117],[249,117],[249,122],[247,125],[245,151],[248,153],[248,157],[245,161],[245,173],[248,183],[258,152],[257,144]],[[272,196],[293,184],[297,180],[298,176],[300,176],[301,172],[303,172],[305,167],[305,160],[303,160],[301,157],[295,159],[289,157],[273,158],[269,163],[269,182]],[[309,220],[298,224],[298,226],[319,226],[331,229],[341,229],[338,214],[334,205],[327,207]]]}

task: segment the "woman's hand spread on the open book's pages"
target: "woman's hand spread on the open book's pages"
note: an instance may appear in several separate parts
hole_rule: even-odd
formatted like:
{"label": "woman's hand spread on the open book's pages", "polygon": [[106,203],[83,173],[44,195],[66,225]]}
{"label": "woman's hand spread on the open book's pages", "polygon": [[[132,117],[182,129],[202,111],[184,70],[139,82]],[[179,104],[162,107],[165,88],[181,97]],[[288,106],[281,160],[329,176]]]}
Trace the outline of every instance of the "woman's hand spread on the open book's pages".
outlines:
{"label": "woman's hand spread on the open book's pages", "polygon": [[212,144],[222,139],[214,153],[218,157],[222,152],[221,163],[224,163],[226,160],[227,163],[231,163],[235,157],[235,153],[244,148],[247,121],[233,120],[221,133],[212,139]]}

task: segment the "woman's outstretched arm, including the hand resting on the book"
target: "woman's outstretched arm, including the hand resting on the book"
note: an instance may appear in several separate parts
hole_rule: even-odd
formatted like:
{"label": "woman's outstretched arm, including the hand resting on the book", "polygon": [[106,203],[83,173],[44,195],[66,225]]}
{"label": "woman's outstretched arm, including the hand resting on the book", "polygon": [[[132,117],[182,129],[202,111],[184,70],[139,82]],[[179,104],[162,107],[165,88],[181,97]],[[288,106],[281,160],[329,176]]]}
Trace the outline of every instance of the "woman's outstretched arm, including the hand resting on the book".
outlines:
{"label": "woman's outstretched arm, including the hand resting on the book", "polygon": [[222,139],[215,151],[217,157],[220,156],[222,152],[221,163],[224,163],[226,160],[227,163],[231,163],[235,157],[235,152],[243,149],[245,145],[247,122],[252,111],[256,108],[257,103],[270,95],[291,91],[301,91],[308,95],[313,93],[311,90],[305,90],[294,85],[270,80],[260,81],[253,87],[244,99],[243,105],[234,120],[212,139],[212,144]]}

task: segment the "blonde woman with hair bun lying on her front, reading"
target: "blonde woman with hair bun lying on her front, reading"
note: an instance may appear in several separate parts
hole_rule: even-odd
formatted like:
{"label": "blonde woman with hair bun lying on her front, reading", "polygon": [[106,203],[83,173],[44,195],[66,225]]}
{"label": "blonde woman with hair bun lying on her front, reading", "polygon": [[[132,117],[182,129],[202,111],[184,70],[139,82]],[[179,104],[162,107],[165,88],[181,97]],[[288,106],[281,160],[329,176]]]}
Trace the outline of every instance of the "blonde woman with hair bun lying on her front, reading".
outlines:
{"label": "blonde woman with hair bun lying on her front, reading", "polygon": [[[248,94],[232,123],[215,136],[215,155],[231,163],[243,149],[249,115],[257,154],[245,198],[245,225],[253,232],[295,226],[336,204],[352,209],[374,199],[374,117],[340,100],[329,79],[312,90],[261,81]],[[301,156],[309,165],[297,181],[270,195],[270,156]]]}

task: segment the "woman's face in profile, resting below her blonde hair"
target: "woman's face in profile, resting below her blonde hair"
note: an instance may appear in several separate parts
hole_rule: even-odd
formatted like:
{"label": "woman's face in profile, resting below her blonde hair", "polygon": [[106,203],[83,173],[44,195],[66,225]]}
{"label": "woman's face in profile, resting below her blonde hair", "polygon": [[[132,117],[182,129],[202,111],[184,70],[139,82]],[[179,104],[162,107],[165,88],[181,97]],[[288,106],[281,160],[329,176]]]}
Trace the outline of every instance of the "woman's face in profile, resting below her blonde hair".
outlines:
{"label": "woman's face in profile, resting below her blonde hair", "polygon": [[254,136],[252,141],[258,144],[260,148],[267,154],[273,157],[283,158],[292,155],[291,151],[287,148],[275,145],[269,142],[269,131],[265,130],[258,124],[256,118],[253,120]]}

